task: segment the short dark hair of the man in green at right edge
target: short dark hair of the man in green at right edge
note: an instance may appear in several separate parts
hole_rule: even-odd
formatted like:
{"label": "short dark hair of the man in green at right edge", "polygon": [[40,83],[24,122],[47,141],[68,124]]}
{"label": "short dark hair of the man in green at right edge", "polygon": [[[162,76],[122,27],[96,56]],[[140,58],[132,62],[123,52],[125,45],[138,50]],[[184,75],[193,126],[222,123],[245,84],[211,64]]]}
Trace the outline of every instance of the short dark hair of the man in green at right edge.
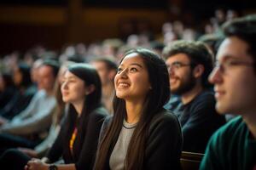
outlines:
{"label": "short dark hair of the man in green at right edge", "polygon": [[248,45],[247,53],[253,57],[256,70],[256,14],[247,15],[224,23],[225,37],[238,37]]}

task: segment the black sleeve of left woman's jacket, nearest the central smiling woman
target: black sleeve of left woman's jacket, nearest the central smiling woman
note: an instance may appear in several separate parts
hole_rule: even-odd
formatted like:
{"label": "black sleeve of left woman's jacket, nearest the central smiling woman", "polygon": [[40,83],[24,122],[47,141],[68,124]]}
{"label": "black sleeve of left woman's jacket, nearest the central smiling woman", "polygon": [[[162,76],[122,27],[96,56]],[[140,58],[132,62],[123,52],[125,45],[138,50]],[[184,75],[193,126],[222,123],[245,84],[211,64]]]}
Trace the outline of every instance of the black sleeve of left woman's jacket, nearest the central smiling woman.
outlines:
{"label": "black sleeve of left woman's jacket, nearest the central smiling woman", "polygon": [[86,167],[90,167],[89,169],[93,168],[99,134],[102,122],[106,116],[107,112],[102,111],[95,111],[90,114],[81,154],[79,156],[79,160],[75,163],[77,170],[87,169]]}

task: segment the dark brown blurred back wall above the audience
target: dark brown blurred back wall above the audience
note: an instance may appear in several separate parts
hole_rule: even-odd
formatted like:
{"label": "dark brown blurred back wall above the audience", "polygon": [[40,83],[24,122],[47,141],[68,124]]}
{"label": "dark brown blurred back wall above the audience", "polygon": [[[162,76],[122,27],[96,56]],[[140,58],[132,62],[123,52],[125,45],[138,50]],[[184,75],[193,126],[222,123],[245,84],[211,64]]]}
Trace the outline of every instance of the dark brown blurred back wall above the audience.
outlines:
{"label": "dark brown blurred back wall above the audience", "polygon": [[[253,14],[253,0],[1,0],[0,57],[24,54],[30,48],[61,51],[70,44],[92,43],[131,35],[161,40],[165,23],[183,39],[200,37],[218,29],[227,17]],[[229,16],[230,14],[230,16]],[[176,30],[175,30],[176,29]],[[215,29],[215,30],[214,30]],[[136,41],[131,37],[129,41]],[[168,41],[168,40],[166,40]],[[81,46],[82,48],[82,46]],[[82,50],[82,49],[81,49]]]}

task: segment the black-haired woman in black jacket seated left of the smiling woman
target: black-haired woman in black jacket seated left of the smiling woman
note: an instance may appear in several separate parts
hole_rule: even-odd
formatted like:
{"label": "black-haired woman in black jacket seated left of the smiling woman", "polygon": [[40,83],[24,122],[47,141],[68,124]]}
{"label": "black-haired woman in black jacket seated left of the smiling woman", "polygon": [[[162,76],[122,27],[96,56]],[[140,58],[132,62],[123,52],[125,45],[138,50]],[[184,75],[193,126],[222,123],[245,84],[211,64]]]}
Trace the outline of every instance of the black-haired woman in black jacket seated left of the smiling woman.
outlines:
{"label": "black-haired woman in black jacket seated left of the smiling woman", "polygon": [[[68,67],[61,84],[62,99],[70,104],[67,117],[48,155],[41,160],[27,160],[26,170],[92,169],[102,122],[108,115],[101,106],[101,90],[100,77],[92,66],[73,64]],[[14,159],[21,165],[26,160],[21,161],[20,155],[20,152],[6,153],[0,165],[7,167],[9,164],[4,163]],[[65,164],[52,164],[61,157]],[[8,169],[24,169],[20,165],[9,165]]]}

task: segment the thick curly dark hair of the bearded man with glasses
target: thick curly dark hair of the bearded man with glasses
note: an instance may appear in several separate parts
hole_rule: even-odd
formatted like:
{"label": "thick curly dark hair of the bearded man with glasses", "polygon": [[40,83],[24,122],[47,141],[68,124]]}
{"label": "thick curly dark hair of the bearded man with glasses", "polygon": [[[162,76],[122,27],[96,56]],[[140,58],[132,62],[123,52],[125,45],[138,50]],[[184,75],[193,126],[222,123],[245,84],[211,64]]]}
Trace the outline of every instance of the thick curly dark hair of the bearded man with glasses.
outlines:
{"label": "thick curly dark hair of the bearded man with glasses", "polygon": [[208,82],[208,76],[213,68],[213,54],[203,42],[195,41],[175,41],[163,49],[163,57],[168,59],[176,54],[186,54],[191,62],[191,67],[196,65],[203,65],[205,71],[202,74],[201,82],[204,88],[211,87]]}

